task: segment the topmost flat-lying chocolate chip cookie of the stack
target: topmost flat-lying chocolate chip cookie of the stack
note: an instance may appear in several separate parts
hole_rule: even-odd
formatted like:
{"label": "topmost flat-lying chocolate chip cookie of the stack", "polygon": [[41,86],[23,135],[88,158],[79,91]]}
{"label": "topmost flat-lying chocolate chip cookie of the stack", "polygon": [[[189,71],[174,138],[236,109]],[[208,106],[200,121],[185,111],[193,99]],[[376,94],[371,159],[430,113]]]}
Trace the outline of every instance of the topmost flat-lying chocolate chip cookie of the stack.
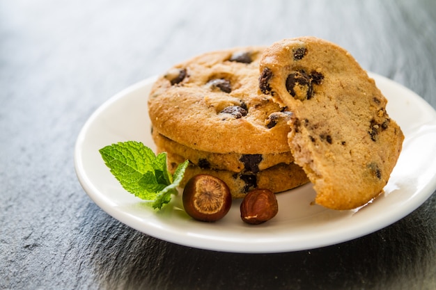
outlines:
{"label": "topmost flat-lying chocolate chip cookie of the stack", "polygon": [[150,92],[153,127],[176,143],[205,152],[290,152],[290,112],[271,95],[258,94],[262,51],[214,51],[172,67]]}

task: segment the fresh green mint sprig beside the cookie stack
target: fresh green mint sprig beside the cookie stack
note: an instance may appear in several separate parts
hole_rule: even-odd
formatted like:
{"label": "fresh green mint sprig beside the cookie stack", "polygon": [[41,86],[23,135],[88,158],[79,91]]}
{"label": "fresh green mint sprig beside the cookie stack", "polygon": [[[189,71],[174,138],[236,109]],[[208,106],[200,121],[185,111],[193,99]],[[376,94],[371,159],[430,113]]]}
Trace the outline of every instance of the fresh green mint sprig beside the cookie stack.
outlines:
{"label": "fresh green mint sprig beside the cookie stack", "polygon": [[166,166],[166,152],[157,156],[146,145],[137,141],[112,144],[99,150],[123,188],[142,200],[153,202],[154,209],[162,209],[177,195],[189,161],[180,163],[174,175]]}

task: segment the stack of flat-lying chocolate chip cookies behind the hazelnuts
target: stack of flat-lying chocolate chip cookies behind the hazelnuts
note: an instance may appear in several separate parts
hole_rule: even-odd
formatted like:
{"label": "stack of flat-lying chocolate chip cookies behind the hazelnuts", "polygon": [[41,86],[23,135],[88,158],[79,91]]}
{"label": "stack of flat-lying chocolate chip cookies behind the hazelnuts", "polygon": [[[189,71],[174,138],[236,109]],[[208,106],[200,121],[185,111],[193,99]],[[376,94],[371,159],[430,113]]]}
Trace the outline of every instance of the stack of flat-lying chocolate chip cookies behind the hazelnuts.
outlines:
{"label": "stack of flat-lying chocolate chip cookies behind the hazelnuts", "polygon": [[182,186],[207,173],[233,198],[254,188],[286,191],[309,181],[288,145],[292,113],[258,92],[263,47],[215,51],[171,68],[148,99],[153,139],[169,168],[188,159]]}

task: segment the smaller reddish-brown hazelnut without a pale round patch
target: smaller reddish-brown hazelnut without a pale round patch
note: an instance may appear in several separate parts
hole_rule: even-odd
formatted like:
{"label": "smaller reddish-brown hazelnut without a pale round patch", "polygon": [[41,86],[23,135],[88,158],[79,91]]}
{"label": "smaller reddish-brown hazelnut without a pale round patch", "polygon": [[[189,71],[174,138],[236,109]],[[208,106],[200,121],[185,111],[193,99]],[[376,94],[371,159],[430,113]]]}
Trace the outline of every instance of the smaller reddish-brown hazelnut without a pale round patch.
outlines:
{"label": "smaller reddish-brown hazelnut without a pale round patch", "polygon": [[240,209],[245,223],[258,225],[274,218],[279,211],[279,204],[272,191],[258,188],[247,193]]}

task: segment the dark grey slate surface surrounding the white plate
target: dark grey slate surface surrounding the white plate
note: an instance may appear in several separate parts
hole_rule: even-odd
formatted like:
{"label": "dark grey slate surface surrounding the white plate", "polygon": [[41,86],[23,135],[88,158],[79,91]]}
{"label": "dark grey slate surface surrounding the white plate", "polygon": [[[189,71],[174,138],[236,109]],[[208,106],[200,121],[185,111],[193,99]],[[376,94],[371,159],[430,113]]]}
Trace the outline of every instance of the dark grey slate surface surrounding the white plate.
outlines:
{"label": "dark grey slate surface surrounding the white plate", "polygon": [[205,51],[300,35],[436,107],[431,0],[0,0],[0,289],[436,289],[435,194],[354,241],[247,255],[137,232],[77,181],[77,135],[116,92]]}

